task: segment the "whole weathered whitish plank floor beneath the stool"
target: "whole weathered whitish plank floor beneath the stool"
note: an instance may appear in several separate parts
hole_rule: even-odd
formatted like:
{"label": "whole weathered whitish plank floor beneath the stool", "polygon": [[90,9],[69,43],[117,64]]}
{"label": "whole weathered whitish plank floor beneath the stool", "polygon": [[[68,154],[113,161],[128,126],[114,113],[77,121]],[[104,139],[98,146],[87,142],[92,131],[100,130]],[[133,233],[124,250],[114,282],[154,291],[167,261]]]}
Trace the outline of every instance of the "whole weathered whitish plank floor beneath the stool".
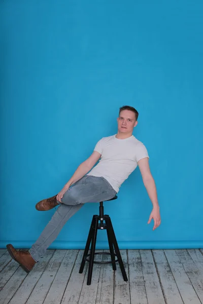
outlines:
{"label": "whole weathered whitish plank floor beneath the stool", "polygon": [[47,250],[26,274],[2,249],[0,304],[203,304],[202,249],[120,251],[128,282],[118,263],[115,272],[111,264],[94,264],[87,286],[87,262],[79,274],[83,250]]}

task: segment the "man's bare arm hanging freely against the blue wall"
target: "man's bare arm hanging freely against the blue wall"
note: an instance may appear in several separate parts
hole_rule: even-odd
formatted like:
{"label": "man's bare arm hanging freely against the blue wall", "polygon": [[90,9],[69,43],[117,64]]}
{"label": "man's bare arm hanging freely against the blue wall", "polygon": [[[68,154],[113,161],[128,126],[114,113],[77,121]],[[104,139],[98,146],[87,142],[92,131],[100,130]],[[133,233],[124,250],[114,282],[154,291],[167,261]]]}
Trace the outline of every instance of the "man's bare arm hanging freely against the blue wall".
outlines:
{"label": "man's bare arm hanging freely against the blue wall", "polygon": [[160,218],[159,205],[158,205],[158,199],[157,199],[156,185],[155,185],[154,179],[152,177],[152,174],[150,172],[149,159],[148,158],[141,159],[138,162],[138,166],[139,166],[140,172],[142,174],[143,183],[147,189],[147,193],[148,193],[149,198],[153,205],[153,209],[150,214],[148,224],[151,222],[151,220],[153,218],[154,219],[153,230],[155,230],[160,225],[161,218]]}

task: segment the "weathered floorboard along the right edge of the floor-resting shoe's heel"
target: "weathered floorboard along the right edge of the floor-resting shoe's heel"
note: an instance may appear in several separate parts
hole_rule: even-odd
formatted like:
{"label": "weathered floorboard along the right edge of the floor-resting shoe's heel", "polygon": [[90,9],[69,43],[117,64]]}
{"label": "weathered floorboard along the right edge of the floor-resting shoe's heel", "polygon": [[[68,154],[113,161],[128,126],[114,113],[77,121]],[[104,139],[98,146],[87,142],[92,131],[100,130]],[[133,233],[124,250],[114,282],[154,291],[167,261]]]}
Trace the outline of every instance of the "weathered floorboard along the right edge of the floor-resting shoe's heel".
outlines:
{"label": "weathered floorboard along the right edge of the floor-resting shoe's heel", "polygon": [[35,288],[41,275],[43,274],[47,264],[52,257],[55,250],[47,250],[45,257],[41,258],[40,261],[35,264],[32,271],[27,275],[26,279],[22,282],[14,296],[12,297],[9,304],[24,304],[33,288]]}

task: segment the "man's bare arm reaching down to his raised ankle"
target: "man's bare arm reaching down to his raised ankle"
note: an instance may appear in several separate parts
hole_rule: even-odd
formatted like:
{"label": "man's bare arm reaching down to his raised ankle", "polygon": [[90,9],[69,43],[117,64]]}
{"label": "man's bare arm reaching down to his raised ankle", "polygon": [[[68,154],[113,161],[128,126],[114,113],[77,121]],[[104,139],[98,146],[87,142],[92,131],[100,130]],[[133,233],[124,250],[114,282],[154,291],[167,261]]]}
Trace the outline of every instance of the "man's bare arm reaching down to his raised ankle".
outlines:
{"label": "man's bare arm reaching down to his raised ankle", "polygon": [[57,195],[57,200],[60,202],[60,199],[63,197],[63,194],[69,189],[69,187],[74,184],[76,181],[81,179],[85,174],[87,174],[92,167],[96,164],[96,162],[100,159],[101,154],[97,151],[93,151],[92,155],[88,159],[86,159],[83,163],[75,171],[74,175],[71,179],[64,185],[62,190]]}

